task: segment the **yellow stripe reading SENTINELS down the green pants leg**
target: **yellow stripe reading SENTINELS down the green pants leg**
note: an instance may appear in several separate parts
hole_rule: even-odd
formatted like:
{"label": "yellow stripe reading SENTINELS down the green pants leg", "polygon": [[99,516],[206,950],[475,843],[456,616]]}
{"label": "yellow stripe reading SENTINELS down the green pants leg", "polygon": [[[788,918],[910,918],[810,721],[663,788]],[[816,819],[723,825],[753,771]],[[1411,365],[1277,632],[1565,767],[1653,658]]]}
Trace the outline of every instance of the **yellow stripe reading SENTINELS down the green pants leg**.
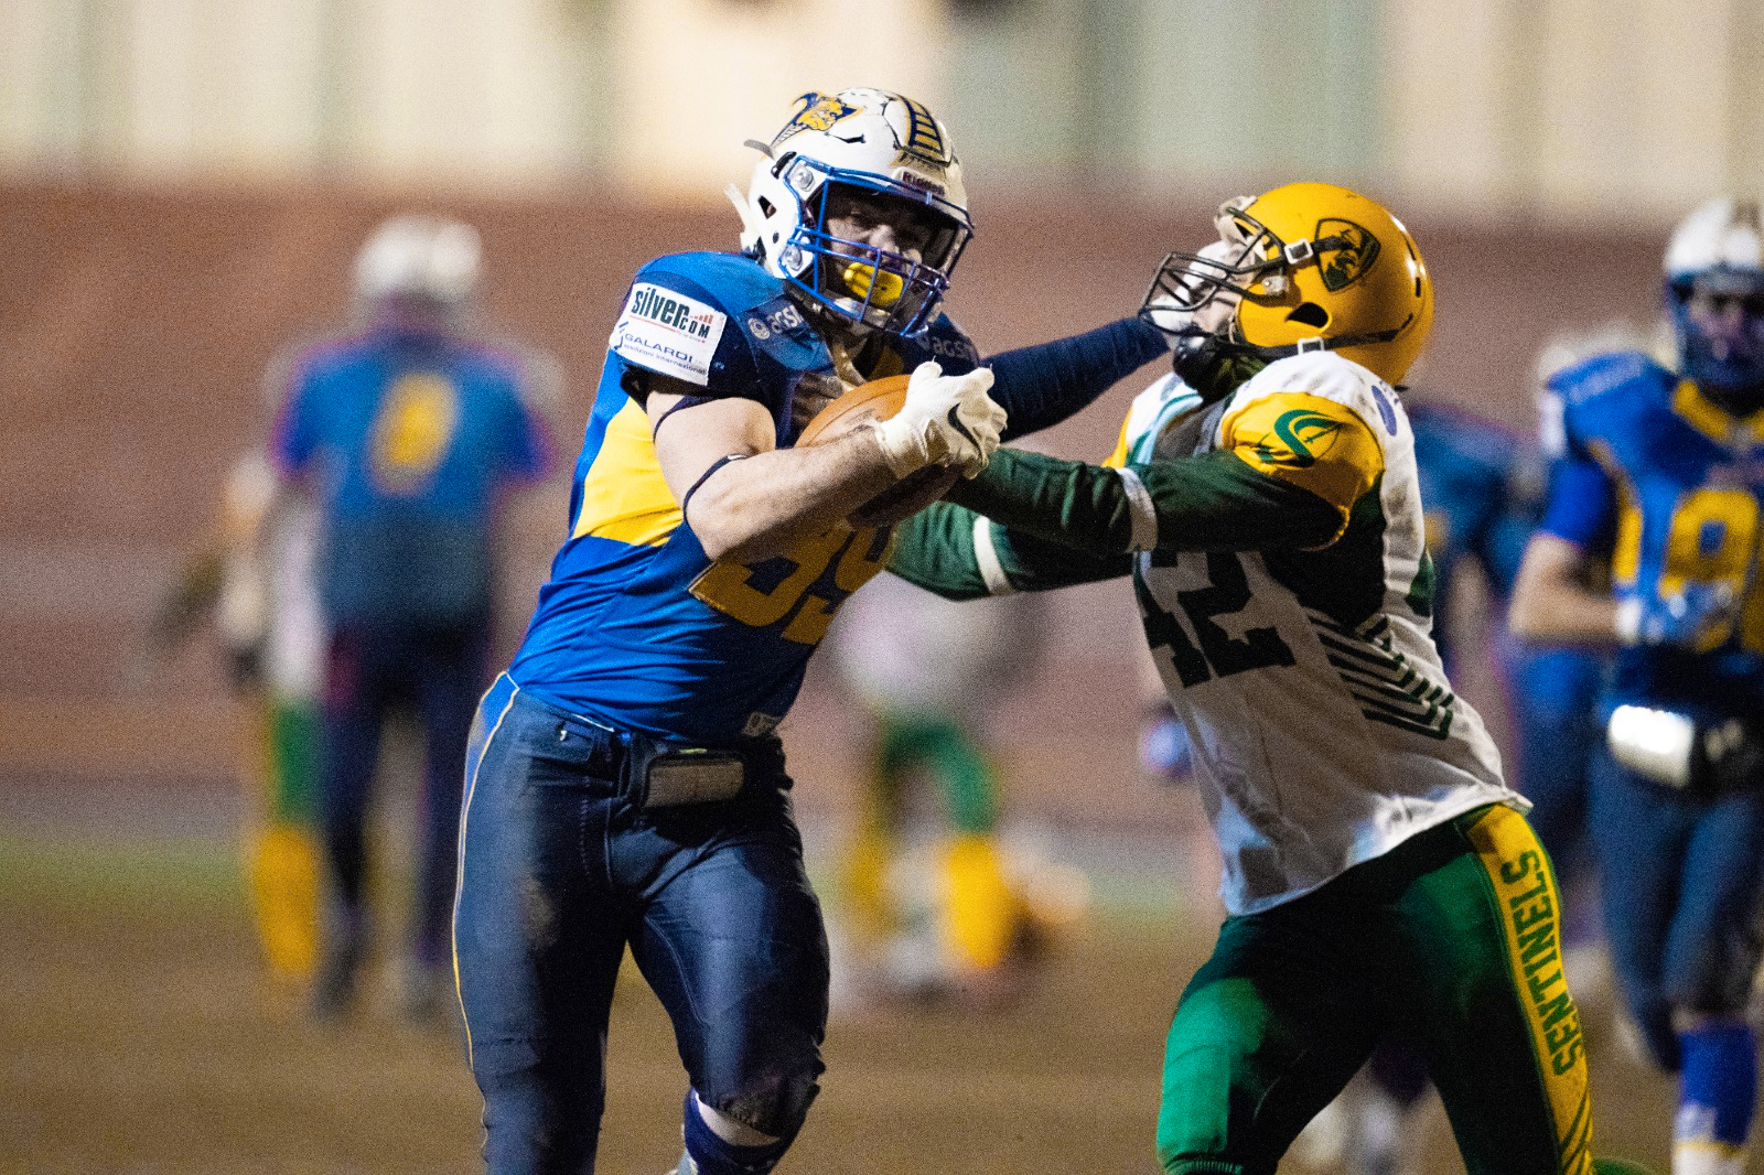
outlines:
{"label": "yellow stripe reading SENTINELS down the green pants leg", "polygon": [[1549,857],[1526,819],[1506,806],[1489,808],[1468,829],[1476,859],[1501,909],[1506,960],[1526,1009],[1538,1076],[1556,1124],[1563,1175],[1593,1170],[1591,1106],[1586,1089],[1586,1041],[1581,1009],[1561,970],[1561,896]]}

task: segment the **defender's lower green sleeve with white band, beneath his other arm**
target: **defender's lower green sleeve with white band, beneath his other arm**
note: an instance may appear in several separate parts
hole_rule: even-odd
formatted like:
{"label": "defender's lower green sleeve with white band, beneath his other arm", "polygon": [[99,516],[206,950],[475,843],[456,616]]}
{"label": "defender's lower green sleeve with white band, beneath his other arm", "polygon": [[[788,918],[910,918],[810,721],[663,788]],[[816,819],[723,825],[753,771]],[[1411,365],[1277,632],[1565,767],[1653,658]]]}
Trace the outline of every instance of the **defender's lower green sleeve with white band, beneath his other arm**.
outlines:
{"label": "defender's lower green sleeve with white band, beneath his other arm", "polygon": [[[972,510],[946,501],[931,503],[894,528],[894,554],[887,570],[949,600],[991,595],[974,550]],[[1016,591],[1051,591],[1132,570],[1132,556],[1095,558],[1034,535],[1013,535],[991,522],[998,568]]]}

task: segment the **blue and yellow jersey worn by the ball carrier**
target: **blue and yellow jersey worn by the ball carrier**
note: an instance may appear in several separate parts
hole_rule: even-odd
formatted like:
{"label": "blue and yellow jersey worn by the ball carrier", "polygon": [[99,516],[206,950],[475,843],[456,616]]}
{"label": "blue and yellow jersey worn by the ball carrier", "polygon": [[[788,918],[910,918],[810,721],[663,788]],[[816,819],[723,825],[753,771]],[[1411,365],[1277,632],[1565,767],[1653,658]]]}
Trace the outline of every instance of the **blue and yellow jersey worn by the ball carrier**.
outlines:
{"label": "blue and yellow jersey worn by the ball carrier", "polygon": [[[935,358],[970,370],[968,339],[938,318],[889,339],[870,378]],[[602,369],[570,496],[570,535],[552,561],[510,676],[570,711],[653,737],[729,743],[767,734],[790,707],[810,653],[840,603],[882,570],[889,533],[836,528],[789,554],[713,561],[662,478],[642,372],[743,397],[796,441],[797,392],[840,388],[820,333],[780,279],[734,254],[651,261],[626,295]],[[691,413],[667,429],[691,429]]]}

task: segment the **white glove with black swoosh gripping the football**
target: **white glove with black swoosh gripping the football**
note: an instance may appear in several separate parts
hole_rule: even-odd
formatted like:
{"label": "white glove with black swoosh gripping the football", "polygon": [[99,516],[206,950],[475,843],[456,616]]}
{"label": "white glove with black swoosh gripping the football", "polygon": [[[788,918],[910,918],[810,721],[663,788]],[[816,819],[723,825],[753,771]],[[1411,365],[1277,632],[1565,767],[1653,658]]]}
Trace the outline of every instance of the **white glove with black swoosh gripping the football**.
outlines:
{"label": "white glove with black swoosh gripping the football", "polygon": [[914,367],[901,409],[870,425],[894,476],[930,464],[953,466],[965,478],[984,469],[1005,420],[1004,409],[986,395],[990,386],[990,367],[975,367],[965,376],[946,376],[931,362]]}

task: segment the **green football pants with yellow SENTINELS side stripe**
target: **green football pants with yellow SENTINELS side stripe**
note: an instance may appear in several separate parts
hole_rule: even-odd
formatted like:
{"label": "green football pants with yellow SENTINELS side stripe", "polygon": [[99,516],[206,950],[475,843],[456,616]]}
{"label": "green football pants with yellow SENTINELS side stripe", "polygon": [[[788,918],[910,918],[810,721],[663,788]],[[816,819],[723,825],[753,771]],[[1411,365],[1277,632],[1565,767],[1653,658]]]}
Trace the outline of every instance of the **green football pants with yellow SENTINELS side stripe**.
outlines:
{"label": "green football pants with yellow SENTINELS side stripe", "polygon": [[1581,1014],[1524,817],[1469,812],[1261,914],[1230,917],[1170,1025],[1170,1175],[1272,1175],[1387,1030],[1439,1087],[1469,1175],[1586,1175]]}

